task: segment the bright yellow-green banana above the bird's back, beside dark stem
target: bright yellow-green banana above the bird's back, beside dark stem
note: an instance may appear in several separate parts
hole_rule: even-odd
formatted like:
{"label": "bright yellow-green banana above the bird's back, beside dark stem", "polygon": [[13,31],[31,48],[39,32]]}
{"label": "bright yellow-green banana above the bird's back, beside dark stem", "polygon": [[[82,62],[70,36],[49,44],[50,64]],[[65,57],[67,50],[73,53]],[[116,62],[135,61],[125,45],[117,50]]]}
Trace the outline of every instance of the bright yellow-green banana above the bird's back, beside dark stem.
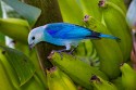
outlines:
{"label": "bright yellow-green banana above the bird's back, beside dark stem", "polygon": [[58,0],[58,2],[63,17],[63,22],[79,25],[82,24],[83,12],[76,0]]}

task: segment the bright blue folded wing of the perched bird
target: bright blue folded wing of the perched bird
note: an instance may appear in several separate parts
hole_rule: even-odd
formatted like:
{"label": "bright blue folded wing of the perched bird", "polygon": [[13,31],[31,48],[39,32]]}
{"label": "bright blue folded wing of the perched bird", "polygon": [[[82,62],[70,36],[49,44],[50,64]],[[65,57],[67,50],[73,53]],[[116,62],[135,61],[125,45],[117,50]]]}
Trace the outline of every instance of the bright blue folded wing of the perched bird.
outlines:
{"label": "bright blue folded wing of the perched bird", "polygon": [[86,39],[90,38],[91,36],[91,38],[97,38],[95,35],[92,35],[94,31],[89,30],[88,28],[67,23],[48,24],[46,30],[53,38]]}

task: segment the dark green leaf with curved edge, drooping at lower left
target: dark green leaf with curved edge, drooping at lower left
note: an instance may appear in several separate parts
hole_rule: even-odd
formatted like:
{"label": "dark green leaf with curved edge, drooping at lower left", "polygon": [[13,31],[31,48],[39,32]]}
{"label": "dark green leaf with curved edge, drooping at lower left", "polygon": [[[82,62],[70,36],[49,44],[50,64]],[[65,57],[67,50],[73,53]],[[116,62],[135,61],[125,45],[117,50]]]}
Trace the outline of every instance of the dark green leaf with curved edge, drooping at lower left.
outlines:
{"label": "dark green leaf with curved edge, drooping at lower left", "polygon": [[5,48],[3,46],[0,46],[0,49],[2,49],[3,55],[15,69],[21,82],[20,86],[27,82],[36,70],[30,60],[21,51],[15,49]]}

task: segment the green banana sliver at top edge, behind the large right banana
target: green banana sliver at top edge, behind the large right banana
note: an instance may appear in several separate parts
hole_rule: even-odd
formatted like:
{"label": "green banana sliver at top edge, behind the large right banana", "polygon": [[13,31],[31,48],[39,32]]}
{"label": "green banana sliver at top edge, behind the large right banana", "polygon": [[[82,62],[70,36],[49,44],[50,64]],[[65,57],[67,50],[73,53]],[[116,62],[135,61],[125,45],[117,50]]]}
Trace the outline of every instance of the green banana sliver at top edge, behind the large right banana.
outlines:
{"label": "green banana sliver at top edge, behind the large right banana", "polygon": [[116,4],[119,8],[121,8],[122,9],[122,11],[124,12],[124,13],[126,13],[126,5],[125,5],[125,3],[124,3],[124,0],[108,0],[108,1],[110,1],[110,2],[112,2],[112,3],[114,3],[114,4]]}

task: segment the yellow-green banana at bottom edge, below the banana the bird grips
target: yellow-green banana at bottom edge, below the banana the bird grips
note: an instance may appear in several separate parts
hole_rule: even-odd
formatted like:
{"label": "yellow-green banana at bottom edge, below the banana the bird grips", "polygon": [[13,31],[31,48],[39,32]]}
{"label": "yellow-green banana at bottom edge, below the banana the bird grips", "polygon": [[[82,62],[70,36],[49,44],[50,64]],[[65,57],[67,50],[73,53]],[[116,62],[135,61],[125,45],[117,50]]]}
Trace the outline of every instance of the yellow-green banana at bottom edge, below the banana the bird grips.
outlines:
{"label": "yellow-green banana at bottom edge, below the banana the bird grips", "polygon": [[58,67],[47,69],[47,82],[49,90],[76,90],[71,78]]}

